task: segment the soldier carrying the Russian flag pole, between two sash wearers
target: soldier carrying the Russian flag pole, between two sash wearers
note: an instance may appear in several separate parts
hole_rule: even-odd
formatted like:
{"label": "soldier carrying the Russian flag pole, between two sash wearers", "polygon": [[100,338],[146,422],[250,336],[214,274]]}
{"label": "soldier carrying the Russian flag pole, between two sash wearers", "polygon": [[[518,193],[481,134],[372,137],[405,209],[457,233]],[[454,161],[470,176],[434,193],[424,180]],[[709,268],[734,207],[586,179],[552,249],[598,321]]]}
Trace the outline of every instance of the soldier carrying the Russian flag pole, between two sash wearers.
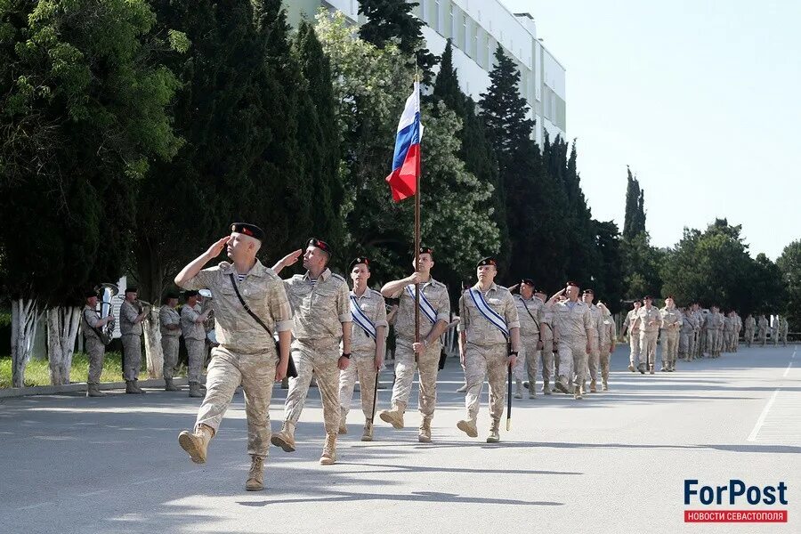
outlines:
{"label": "soldier carrying the Russian flag pole, between two sash wearers", "polygon": [[[437,403],[437,373],[440,365],[440,336],[450,321],[448,287],[431,276],[433,249],[420,247],[418,265],[409,277],[384,284],[384,298],[400,298],[395,316],[395,384],[392,386],[392,408],[380,414],[392,428],[403,428],[403,414],[409,404],[415,371],[420,376],[420,428],[417,440],[431,441],[431,421]],[[415,285],[420,285],[420,341],[415,343]],[[461,318],[460,318],[461,319]]]}

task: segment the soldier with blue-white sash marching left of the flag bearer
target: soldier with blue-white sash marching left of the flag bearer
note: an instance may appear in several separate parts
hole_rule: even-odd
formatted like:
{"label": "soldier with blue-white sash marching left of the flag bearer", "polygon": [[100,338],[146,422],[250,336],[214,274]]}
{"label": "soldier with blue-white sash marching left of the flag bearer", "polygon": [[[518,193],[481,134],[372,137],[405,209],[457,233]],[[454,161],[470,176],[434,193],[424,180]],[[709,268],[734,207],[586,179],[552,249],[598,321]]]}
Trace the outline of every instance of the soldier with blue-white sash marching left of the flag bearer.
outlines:
{"label": "soldier with blue-white sash marching left of the flag bearer", "polygon": [[384,363],[386,346],[386,304],[380,293],[368,287],[370,261],[360,256],[353,260],[351,271],[353,289],[350,293],[353,333],[351,336],[352,362],[339,373],[339,433],[348,433],[346,418],[351,409],[353,388],[359,378],[361,411],[364,413],[364,431],[361,441],[373,441],[373,405],[376,398],[376,376]]}

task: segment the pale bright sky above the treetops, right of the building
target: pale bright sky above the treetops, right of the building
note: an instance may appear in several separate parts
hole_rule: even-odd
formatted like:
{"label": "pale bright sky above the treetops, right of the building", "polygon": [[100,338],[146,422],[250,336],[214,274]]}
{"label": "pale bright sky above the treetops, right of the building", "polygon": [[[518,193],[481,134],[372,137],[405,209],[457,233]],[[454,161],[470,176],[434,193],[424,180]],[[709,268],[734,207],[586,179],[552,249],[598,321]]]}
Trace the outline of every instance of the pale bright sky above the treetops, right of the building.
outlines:
{"label": "pale bright sky above the treetops, right of the building", "polygon": [[651,244],[716,218],[756,256],[801,239],[801,2],[502,0],[564,65],[567,137],[595,219],[620,229],[626,166]]}

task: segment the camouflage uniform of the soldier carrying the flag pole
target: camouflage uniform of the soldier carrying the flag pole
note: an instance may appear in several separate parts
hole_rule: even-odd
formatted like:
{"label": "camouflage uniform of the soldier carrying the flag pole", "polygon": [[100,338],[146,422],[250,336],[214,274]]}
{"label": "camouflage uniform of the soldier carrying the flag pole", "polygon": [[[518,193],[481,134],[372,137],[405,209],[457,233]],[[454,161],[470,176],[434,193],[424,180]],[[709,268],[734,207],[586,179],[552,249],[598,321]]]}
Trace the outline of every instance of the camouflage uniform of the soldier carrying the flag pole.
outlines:
{"label": "camouflage uniform of the soldier carrying the flag pole", "polygon": [[[414,286],[411,288],[414,291]],[[435,279],[430,279],[420,284],[420,292],[433,306],[437,314],[434,320],[448,323],[450,320],[448,287]],[[395,384],[392,386],[392,408],[397,408],[401,412],[406,409],[417,368],[420,375],[420,413],[430,422],[437,403],[437,373],[441,344],[439,341],[429,344],[424,352],[417,354],[415,362],[415,352],[412,350],[412,344],[415,342],[415,299],[409,295],[406,287],[392,295],[392,298],[398,297],[401,298],[401,303],[395,314]],[[428,336],[434,324],[421,310],[421,340]]]}

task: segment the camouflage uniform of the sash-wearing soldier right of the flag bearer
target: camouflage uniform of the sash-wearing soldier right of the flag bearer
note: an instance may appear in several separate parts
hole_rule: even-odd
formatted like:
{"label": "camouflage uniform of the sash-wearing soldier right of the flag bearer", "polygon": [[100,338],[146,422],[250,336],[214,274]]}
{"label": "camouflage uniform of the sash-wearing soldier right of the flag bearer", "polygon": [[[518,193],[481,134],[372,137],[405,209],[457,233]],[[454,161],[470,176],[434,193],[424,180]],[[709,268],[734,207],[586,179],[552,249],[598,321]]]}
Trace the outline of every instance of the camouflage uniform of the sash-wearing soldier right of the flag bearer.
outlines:
{"label": "camouflage uniform of the sash-wearing soldier right of the flag bearer", "polygon": [[[481,292],[481,284],[472,287]],[[506,287],[493,283],[484,293],[484,300],[490,308],[506,322],[506,328],[520,328],[520,319],[514,297]],[[467,395],[465,409],[467,419],[475,421],[479,412],[481,390],[484,377],[489,375],[490,382],[490,417],[495,428],[504,415],[506,399],[506,361],[509,352],[506,347],[506,336],[490,320],[487,320],[469,295],[469,290],[459,299],[458,330],[466,335],[465,345],[465,377],[467,379]]]}

